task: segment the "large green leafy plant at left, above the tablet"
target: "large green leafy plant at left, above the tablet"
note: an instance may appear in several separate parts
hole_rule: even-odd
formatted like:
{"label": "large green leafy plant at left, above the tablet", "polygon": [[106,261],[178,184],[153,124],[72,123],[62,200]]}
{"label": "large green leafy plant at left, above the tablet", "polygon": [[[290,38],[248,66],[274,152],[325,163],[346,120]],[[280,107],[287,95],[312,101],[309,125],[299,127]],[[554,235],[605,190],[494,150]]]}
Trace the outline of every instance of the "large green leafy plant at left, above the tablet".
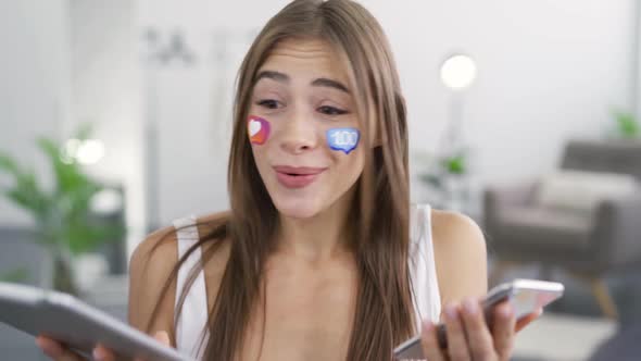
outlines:
{"label": "large green leafy plant at left, above the tablet", "polygon": [[[90,128],[84,126],[76,139],[88,138]],[[76,256],[89,252],[108,241],[122,239],[124,228],[104,225],[91,214],[91,200],[103,185],[85,173],[75,154],[50,138],[37,139],[37,146],[47,157],[53,187],[46,189],[36,173],[5,152],[0,151],[0,173],[13,178],[13,185],[0,189],[15,206],[30,213],[36,226],[36,241],[52,259],[53,289],[77,295],[73,274]],[[22,276],[16,271],[5,276],[15,279]]]}

